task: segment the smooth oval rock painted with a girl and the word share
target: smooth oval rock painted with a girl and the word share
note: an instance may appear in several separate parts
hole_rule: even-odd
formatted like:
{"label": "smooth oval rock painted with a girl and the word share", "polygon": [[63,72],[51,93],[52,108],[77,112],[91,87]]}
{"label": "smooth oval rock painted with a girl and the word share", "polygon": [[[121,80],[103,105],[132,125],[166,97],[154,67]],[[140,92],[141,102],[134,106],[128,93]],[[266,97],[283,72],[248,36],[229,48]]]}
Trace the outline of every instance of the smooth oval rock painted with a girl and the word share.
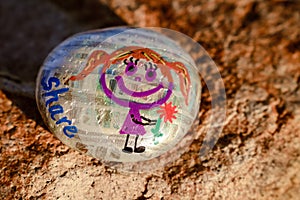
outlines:
{"label": "smooth oval rock painted with a girl and the word share", "polygon": [[193,59],[150,29],[77,34],[46,58],[37,78],[41,115],[63,143],[103,161],[165,154],[194,122],[201,84]]}

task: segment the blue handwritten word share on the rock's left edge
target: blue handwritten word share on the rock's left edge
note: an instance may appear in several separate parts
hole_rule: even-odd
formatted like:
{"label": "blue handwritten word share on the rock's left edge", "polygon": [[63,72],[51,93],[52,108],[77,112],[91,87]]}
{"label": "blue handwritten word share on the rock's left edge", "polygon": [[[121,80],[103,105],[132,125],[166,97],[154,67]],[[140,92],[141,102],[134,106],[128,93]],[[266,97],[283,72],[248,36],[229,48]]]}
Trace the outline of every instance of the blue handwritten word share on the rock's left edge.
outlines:
{"label": "blue handwritten word share on the rock's left edge", "polygon": [[[52,120],[55,121],[56,125],[64,124],[63,132],[64,134],[72,138],[75,136],[75,134],[78,132],[77,127],[72,125],[72,121],[69,120],[66,116],[58,117],[58,114],[64,113],[64,108],[60,104],[54,104],[59,99],[59,94],[63,94],[67,91],[69,91],[69,88],[60,88],[57,89],[60,85],[60,81],[56,77],[50,77],[48,80],[44,76],[41,80],[41,85],[43,87],[43,90],[47,91],[44,94],[44,97],[46,100],[46,107],[48,108],[48,111],[50,113],[50,117]],[[54,90],[52,90],[55,88]],[[51,106],[50,106],[51,104]],[[67,125],[66,125],[67,124]]]}

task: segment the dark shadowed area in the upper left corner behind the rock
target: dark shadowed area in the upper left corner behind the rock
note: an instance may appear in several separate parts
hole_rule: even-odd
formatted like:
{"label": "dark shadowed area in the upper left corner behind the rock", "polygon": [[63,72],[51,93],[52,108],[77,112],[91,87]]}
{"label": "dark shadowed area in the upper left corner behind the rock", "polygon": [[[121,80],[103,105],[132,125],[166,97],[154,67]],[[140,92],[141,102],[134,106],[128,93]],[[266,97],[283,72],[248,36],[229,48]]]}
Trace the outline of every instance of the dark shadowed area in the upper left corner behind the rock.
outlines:
{"label": "dark shadowed area in the upper left corner behind the rock", "polygon": [[66,37],[120,25],[126,23],[98,0],[1,0],[0,77],[32,82],[51,49]]}

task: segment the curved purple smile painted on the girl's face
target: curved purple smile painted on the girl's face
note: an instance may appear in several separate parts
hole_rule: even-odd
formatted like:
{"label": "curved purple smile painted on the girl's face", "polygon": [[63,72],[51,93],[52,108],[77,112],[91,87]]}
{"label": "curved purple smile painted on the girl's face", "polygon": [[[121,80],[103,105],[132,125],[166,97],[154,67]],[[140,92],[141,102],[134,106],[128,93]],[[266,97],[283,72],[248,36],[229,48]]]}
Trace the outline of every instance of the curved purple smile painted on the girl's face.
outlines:
{"label": "curved purple smile painted on the girl's face", "polygon": [[115,79],[117,81],[117,84],[118,84],[120,90],[122,92],[124,92],[125,94],[128,94],[128,95],[130,95],[132,97],[145,97],[145,96],[149,96],[151,94],[154,94],[154,93],[158,92],[160,89],[163,88],[162,83],[160,83],[157,87],[155,87],[155,88],[153,88],[151,90],[147,90],[147,91],[143,91],[143,92],[136,92],[136,91],[129,90],[125,86],[125,83],[124,83],[123,78],[121,76],[116,76]]}

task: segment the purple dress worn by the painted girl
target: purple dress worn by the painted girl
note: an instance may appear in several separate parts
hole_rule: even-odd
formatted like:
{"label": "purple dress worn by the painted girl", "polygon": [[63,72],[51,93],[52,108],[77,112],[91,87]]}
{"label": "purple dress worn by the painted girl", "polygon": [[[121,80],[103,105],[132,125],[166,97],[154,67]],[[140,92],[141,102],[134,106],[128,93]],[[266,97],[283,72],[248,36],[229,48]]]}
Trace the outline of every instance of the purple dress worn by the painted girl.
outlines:
{"label": "purple dress worn by the painted girl", "polygon": [[120,130],[120,134],[130,134],[130,135],[145,135],[146,130],[143,125],[137,124],[132,120],[142,122],[139,110],[130,108],[128,115],[123,123]]}

